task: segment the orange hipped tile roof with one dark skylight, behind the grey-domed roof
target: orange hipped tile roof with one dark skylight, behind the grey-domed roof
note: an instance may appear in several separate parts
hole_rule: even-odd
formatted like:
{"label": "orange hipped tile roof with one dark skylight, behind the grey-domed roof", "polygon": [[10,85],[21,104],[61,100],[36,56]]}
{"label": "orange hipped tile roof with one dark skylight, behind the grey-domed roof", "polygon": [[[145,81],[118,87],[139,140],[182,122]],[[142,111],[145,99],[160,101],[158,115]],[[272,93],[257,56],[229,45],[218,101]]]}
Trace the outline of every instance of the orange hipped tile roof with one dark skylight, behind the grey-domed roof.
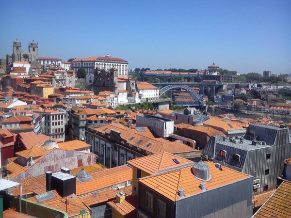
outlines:
{"label": "orange hipped tile roof with one dark skylight, behind the grey-domed roof", "polygon": [[[177,159],[179,163],[176,164],[173,159]],[[132,159],[129,160],[128,163],[151,175],[161,170],[178,167],[187,163],[193,163],[193,161],[185,159],[183,157],[172,155],[167,152],[162,152],[154,155],[148,155]]]}

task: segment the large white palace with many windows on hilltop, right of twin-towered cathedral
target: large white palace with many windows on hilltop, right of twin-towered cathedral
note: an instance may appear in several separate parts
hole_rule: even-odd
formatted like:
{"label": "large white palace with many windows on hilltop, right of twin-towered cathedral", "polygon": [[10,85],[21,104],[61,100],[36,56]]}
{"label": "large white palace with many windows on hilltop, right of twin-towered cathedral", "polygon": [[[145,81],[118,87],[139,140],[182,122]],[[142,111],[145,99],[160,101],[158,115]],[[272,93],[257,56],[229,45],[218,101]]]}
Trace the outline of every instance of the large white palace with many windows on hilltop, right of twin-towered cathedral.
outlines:
{"label": "large white palace with many windows on hilltop, right of twin-towered cathedral", "polygon": [[95,69],[104,69],[109,71],[114,67],[117,70],[117,75],[119,76],[128,76],[128,61],[125,61],[121,58],[112,58],[109,54],[105,57],[89,57],[75,59],[71,62],[71,69],[78,71],[80,67],[84,68],[86,73],[93,74]]}

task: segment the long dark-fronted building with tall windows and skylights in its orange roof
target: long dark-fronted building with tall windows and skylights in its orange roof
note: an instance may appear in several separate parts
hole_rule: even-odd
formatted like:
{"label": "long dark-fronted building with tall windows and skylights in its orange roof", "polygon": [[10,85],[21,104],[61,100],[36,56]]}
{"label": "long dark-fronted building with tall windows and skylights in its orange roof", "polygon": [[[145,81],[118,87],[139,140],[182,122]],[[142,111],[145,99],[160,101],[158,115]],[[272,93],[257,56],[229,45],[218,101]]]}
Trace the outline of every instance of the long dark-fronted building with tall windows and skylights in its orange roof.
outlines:
{"label": "long dark-fronted building with tall windows and skylights in its orange roof", "polygon": [[98,162],[109,167],[126,164],[128,160],[167,151],[187,158],[200,157],[201,151],[178,141],[155,138],[148,127],[134,129],[121,124],[108,124],[86,130],[86,143],[98,155]]}

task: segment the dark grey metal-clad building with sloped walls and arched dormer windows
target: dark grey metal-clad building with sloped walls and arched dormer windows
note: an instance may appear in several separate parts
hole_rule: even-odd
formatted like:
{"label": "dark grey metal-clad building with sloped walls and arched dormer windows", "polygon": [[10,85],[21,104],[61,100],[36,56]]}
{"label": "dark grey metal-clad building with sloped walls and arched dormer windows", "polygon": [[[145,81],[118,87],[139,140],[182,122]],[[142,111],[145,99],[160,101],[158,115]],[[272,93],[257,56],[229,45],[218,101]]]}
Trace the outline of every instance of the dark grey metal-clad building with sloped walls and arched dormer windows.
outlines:
{"label": "dark grey metal-clad building with sloped walls and arched dormer windows", "polygon": [[272,190],[291,155],[288,128],[251,124],[242,137],[211,137],[203,155],[255,177],[254,193]]}

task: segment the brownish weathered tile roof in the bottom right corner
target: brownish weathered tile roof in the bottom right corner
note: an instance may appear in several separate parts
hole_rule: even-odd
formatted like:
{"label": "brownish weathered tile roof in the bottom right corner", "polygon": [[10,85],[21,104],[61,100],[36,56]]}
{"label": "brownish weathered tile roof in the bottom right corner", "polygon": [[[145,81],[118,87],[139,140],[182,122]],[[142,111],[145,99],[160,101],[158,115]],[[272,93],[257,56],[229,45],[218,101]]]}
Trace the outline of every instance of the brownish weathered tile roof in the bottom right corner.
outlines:
{"label": "brownish weathered tile roof in the bottom right corner", "polygon": [[291,182],[284,181],[267,202],[254,214],[253,218],[280,217],[291,215]]}

